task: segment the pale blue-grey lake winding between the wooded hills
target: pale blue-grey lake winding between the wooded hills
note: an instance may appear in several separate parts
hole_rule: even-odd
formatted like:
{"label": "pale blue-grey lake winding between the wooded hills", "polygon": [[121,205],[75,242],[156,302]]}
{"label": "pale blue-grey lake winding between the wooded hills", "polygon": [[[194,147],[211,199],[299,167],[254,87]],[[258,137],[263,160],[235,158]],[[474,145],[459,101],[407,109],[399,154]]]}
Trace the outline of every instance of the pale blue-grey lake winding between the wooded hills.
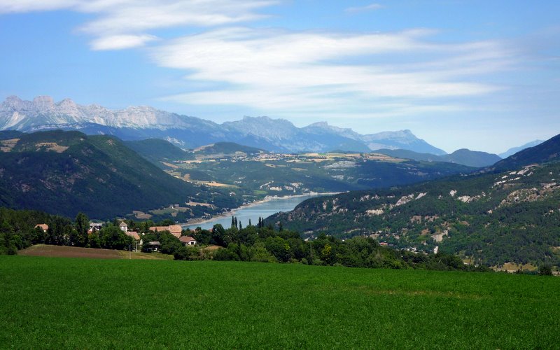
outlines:
{"label": "pale blue-grey lake winding between the wooded hills", "polygon": [[218,218],[213,218],[209,221],[205,221],[203,223],[194,223],[192,225],[182,225],[183,228],[190,228],[194,230],[195,228],[203,228],[203,229],[210,229],[213,228],[214,225],[217,223],[221,224],[224,228],[230,228],[232,225],[232,216],[237,217],[237,221],[241,222],[241,225],[245,227],[249,223],[249,219],[251,219],[251,223],[256,225],[258,223],[258,217],[266,218],[267,216],[271,216],[272,214],[276,214],[279,211],[290,211],[294,209],[297,204],[300,204],[304,200],[308,200],[309,198],[319,197],[321,195],[327,194],[313,194],[313,195],[302,195],[302,196],[292,196],[292,197],[278,197],[272,198],[267,200],[266,202],[261,202],[257,204],[253,204],[249,207],[241,207],[239,209],[234,209],[230,212],[228,216],[221,216]]}

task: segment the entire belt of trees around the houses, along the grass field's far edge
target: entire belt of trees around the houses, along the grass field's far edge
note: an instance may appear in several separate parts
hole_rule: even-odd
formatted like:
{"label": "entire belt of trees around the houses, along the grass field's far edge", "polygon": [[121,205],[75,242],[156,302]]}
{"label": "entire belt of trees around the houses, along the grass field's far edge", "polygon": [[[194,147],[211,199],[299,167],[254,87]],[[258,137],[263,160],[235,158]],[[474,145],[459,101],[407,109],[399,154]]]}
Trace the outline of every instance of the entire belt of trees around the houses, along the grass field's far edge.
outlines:
{"label": "entire belt of trees around the houses, along the grass field's far edge", "polygon": [[[236,218],[233,218],[236,223]],[[38,223],[46,223],[48,230],[35,228]],[[18,249],[32,244],[55,244],[83,246],[89,248],[125,249],[134,239],[118,228],[118,222],[106,223],[99,230],[88,232],[90,221],[85,214],[78,214],[72,221],[62,216],[52,216],[39,211],[15,211],[0,208],[0,253],[15,254]],[[258,224],[248,223],[225,229],[214,225],[212,230],[183,230],[183,236],[192,236],[197,246],[184,246],[168,231],[151,232],[153,221],[127,221],[137,230],[144,242],[159,241],[160,252],[172,254],[176,260],[239,260],[253,262],[302,263],[307,265],[342,265],[347,267],[370,267],[391,269],[440,269],[462,271],[487,271],[486,267],[465,265],[461,258],[447,253],[423,254],[400,251],[380,246],[370,237],[337,239],[319,235],[306,241],[291,230],[275,229],[264,225],[262,218]],[[158,225],[169,225],[163,221]],[[217,246],[216,249],[209,247]],[[220,248],[218,248],[220,247]],[[143,251],[150,251],[144,244]]]}

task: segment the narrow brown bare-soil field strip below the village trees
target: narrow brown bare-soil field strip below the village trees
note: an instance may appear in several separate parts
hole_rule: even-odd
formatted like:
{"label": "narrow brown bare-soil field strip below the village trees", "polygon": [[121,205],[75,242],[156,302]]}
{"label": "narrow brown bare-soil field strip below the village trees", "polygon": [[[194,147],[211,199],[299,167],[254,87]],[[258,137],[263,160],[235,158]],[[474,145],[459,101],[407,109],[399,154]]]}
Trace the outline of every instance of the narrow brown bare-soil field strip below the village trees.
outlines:
{"label": "narrow brown bare-soil field strip below the village trees", "polygon": [[[116,251],[111,249],[81,248],[77,246],[50,246],[37,244],[18,251],[19,255],[45,256],[50,258],[93,258],[93,259],[169,259],[171,255]],[[173,258],[171,256],[171,258]]]}

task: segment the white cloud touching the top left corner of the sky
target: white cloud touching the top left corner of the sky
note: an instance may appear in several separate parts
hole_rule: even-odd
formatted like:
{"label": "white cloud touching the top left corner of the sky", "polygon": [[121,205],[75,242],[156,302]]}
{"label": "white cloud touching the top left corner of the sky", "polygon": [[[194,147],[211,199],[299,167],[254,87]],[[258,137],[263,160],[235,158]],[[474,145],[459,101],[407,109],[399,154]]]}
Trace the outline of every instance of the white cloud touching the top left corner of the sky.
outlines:
{"label": "white cloud touching the top left corner of the sky", "polygon": [[214,27],[260,20],[257,12],[276,0],[0,0],[0,13],[73,10],[97,14],[79,31],[94,37],[92,49],[133,48],[153,40],[148,31]]}

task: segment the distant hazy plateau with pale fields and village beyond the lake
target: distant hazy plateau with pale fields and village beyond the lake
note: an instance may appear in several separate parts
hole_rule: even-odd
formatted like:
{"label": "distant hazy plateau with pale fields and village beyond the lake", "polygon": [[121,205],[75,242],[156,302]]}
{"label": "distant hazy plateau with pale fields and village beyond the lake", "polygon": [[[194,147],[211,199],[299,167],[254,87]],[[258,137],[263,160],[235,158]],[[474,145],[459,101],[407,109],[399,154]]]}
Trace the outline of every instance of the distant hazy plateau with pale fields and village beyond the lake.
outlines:
{"label": "distant hazy plateau with pale fields and village beyond the lake", "polygon": [[264,191],[267,195],[294,195],[309,191],[325,193],[402,186],[474,170],[444,162],[372,160],[359,153],[324,153],[318,157],[271,155],[265,160],[217,159],[178,166],[169,172],[188,176],[192,181],[216,181],[235,186],[236,193],[241,195],[253,195],[255,191]]}

